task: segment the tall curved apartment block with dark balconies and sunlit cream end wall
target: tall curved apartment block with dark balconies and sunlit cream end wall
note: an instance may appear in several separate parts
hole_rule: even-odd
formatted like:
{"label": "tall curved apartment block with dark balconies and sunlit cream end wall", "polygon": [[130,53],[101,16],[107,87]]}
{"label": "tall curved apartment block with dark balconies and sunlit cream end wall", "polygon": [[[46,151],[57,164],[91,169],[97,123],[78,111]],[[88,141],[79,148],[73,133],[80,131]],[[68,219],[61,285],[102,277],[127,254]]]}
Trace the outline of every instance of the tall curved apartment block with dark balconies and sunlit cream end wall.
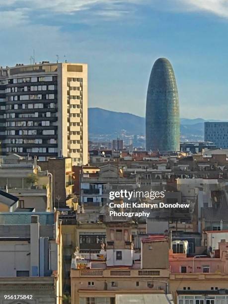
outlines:
{"label": "tall curved apartment block with dark balconies and sunlit cream end wall", "polygon": [[87,65],[42,62],[0,69],[1,153],[88,162]]}

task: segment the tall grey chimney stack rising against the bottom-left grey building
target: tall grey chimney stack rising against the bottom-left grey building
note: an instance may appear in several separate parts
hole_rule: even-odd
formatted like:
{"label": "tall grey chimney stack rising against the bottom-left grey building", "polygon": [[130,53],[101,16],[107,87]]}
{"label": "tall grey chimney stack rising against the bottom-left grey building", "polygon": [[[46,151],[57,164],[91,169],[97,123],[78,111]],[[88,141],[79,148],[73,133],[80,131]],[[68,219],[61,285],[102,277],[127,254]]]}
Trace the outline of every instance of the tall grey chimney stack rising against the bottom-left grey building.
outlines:
{"label": "tall grey chimney stack rising against the bottom-left grey building", "polygon": [[39,277],[39,216],[31,216],[30,224],[30,276]]}

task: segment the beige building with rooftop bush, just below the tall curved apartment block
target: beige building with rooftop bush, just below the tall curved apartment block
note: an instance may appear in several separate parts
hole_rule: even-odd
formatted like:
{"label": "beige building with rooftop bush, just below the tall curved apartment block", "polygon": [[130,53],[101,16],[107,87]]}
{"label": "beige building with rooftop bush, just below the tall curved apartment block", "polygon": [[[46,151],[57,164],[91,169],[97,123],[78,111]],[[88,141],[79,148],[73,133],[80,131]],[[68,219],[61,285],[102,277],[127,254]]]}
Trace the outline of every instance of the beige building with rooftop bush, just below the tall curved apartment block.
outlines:
{"label": "beige building with rooftop bush, just below the tall curved apartment block", "polygon": [[16,196],[19,208],[52,211],[52,184],[52,174],[41,171],[36,157],[28,159],[13,153],[0,160],[0,189]]}

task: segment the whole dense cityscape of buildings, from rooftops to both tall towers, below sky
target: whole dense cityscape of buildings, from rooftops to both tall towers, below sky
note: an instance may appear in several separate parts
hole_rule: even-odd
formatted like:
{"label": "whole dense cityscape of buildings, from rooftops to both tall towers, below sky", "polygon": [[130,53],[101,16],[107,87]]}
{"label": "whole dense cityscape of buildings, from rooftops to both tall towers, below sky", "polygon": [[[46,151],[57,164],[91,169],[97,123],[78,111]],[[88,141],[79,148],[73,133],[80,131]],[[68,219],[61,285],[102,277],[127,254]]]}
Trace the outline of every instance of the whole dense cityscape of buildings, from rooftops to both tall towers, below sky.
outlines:
{"label": "whole dense cityscape of buildings, from rooftops to both tall towers, below sky", "polygon": [[180,141],[160,58],[146,138],[88,141],[87,74],[0,69],[0,303],[228,303],[228,123]]}

